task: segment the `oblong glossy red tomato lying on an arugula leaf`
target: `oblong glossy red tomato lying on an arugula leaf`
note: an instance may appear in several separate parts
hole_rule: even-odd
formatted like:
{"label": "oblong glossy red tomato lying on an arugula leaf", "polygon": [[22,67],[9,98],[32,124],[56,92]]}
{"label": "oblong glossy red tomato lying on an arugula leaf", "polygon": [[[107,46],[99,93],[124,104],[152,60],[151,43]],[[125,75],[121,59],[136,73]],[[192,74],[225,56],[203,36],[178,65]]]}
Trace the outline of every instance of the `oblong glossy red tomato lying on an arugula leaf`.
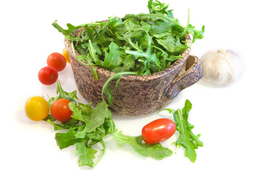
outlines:
{"label": "oblong glossy red tomato lying on an arugula leaf", "polygon": [[153,145],[169,139],[176,130],[175,123],[170,119],[157,119],[142,128],[145,143]]}

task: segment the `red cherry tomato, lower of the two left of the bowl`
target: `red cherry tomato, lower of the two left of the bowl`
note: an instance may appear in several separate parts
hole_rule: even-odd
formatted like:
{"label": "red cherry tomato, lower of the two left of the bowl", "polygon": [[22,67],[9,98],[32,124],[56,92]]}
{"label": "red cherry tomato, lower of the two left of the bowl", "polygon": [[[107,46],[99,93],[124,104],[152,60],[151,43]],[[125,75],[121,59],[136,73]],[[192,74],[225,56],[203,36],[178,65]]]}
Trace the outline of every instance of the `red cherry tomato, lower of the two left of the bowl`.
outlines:
{"label": "red cherry tomato, lower of the two left of the bowl", "polygon": [[43,67],[38,72],[38,79],[44,85],[53,84],[58,79],[58,72],[51,66]]}

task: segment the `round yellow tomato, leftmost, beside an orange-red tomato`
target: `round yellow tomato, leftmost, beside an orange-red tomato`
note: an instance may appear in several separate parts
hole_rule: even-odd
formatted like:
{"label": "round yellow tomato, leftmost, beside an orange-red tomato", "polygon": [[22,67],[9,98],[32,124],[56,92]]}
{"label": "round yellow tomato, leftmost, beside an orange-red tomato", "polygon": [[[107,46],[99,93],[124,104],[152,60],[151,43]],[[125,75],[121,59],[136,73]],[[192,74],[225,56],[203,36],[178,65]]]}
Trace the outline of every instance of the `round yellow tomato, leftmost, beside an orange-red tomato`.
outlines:
{"label": "round yellow tomato, leftmost, beside an orange-red tomato", "polygon": [[34,96],[27,100],[25,112],[29,119],[41,121],[49,115],[49,104],[44,98]]}

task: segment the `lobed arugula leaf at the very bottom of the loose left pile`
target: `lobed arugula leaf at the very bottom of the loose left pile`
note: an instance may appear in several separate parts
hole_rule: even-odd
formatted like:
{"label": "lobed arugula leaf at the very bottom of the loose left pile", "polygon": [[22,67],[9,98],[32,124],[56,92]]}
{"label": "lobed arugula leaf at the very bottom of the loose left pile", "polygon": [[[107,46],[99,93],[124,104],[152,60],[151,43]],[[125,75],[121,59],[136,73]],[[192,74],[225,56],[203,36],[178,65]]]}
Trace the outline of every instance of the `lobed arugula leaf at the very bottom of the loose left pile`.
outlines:
{"label": "lobed arugula leaf at the very bottom of the loose left pile", "polygon": [[92,159],[95,158],[94,154],[97,153],[97,150],[94,150],[91,146],[88,146],[87,143],[88,140],[84,140],[82,143],[77,143],[75,154],[81,154],[78,160],[79,166],[87,165],[92,167],[94,164]]}

